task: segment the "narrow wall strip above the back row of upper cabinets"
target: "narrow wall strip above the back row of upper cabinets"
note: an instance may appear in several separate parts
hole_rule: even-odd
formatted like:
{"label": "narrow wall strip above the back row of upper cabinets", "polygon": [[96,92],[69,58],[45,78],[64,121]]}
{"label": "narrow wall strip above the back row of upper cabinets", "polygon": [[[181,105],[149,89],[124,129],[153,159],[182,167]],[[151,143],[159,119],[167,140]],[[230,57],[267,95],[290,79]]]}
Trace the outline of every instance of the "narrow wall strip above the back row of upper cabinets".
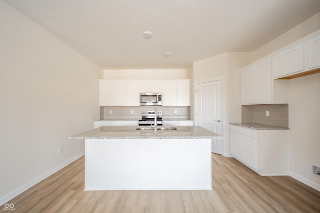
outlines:
{"label": "narrow wall strip above the back row of upper cabinets", "polygon": [[188,69],[105,69],[104,79],[189,79],[191,78]]}

